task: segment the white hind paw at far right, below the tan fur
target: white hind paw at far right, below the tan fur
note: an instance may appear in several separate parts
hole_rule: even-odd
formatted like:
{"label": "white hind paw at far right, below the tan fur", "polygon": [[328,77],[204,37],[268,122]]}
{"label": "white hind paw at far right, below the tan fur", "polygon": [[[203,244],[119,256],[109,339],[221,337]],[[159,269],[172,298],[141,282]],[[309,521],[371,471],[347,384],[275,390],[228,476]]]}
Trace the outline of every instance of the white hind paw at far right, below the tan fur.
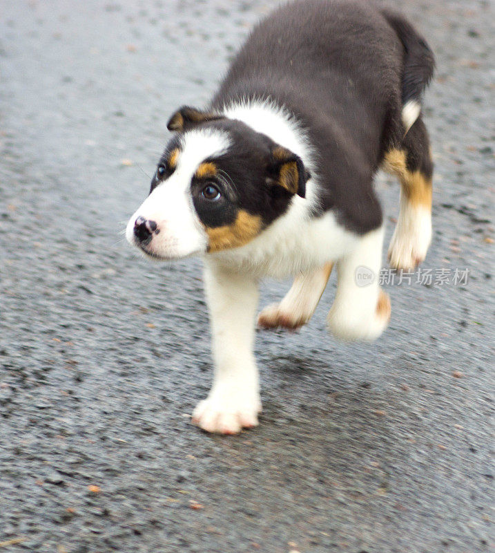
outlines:
{"label": "white hind paw at far right, below the tan fur", "polygon": [[394,269],[412,270],[425,261],[431,242],[431,213],[408,207],[394,230],[389,245],[389,262]]}

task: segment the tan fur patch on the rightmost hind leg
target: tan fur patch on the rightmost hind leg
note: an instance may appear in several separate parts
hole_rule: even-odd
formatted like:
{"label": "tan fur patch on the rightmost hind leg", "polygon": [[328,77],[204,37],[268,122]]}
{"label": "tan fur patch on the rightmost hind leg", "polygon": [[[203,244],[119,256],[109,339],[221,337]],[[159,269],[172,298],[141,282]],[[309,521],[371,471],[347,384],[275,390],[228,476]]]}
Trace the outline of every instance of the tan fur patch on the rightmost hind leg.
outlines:
{"label": "tan fur patch on the rightmost hind leg", "polygon": [[431,209],[431,179],[421,171],[408,171],[403,150],[391,150],[385,154],[383,169],[398,176],[402,191],[411,205]]}

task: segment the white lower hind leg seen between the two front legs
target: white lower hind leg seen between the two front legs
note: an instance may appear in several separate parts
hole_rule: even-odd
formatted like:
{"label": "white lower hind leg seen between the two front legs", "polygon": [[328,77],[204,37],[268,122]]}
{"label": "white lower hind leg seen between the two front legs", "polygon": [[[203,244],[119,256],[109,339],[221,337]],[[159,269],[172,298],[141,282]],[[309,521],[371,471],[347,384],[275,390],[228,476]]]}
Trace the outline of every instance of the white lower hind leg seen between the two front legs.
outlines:
{"label": "white lower hind leg seen between the two front legs", "polygon": [[280,303],[272,303],[258,315],[262,328],[299,328],[313,315],[327,285],[333,263],[295,277],[293,285]]}

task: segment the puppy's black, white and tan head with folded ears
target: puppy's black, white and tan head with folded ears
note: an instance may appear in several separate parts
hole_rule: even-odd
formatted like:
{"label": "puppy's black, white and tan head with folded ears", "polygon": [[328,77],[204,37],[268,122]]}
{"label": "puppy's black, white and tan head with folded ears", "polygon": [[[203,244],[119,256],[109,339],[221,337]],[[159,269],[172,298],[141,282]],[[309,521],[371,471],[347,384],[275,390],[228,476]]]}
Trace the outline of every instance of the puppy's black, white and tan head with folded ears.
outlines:
{"label": "puppy's black, white and tan head with folded ears", "polygon": [[246,124],[184,107],[167,126],[177,133],[126,230],[148,256],[240,247],[284,214],[293,196],[304,198],[302,160]]}

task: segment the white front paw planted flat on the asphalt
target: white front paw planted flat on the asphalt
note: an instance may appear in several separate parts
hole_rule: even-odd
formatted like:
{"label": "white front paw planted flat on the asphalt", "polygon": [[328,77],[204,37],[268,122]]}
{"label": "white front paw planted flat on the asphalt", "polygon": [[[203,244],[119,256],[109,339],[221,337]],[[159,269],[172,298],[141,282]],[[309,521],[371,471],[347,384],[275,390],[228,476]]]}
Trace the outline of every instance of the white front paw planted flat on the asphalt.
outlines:
{"label": "white front paw planted flat on the asphalt", "polygon": [[197,404],[193,422],[206,432],[237,434],[243,428],[258,426],[258,413],[261,413],[258,393],[222,388],[212,390],[206,400]]}

